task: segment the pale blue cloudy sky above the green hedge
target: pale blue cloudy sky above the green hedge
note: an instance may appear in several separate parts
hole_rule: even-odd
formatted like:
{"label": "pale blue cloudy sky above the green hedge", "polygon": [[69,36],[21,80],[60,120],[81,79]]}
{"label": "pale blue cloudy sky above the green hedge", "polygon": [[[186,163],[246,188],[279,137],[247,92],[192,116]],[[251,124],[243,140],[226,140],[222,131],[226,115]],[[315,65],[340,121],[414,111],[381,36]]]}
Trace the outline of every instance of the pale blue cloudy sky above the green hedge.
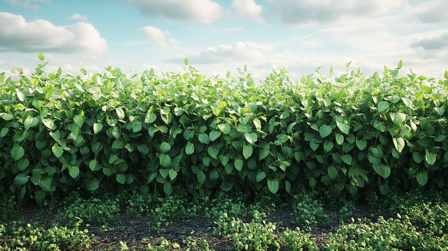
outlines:
{"label": "pale blue cloudy sky above the green hedge", "polygon": [[448,0],[0,0],[0,73],[29,75],[40,52],[48,73],[72,75],[183,74],[187,57],[220,78],[247,64],[259,80],[273,63],[294,81],[319,66],[336,77],[349,61],[371,75],[402,60],[400,75],[444,79],[447,13]]}

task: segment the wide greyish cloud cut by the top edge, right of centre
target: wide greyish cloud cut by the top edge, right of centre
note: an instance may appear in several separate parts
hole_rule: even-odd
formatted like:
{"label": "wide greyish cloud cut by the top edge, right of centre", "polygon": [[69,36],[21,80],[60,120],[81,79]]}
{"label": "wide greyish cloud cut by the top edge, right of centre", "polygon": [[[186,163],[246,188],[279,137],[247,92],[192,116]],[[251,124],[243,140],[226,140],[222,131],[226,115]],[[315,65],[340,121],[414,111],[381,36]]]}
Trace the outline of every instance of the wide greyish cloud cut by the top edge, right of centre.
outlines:
{"label": "wide greyish cloud cut by the top edge, right of centre", "polygon": [[267,6],[288,25],[335,23],[369,17],[402,7],[405,0],[267,0]]}

